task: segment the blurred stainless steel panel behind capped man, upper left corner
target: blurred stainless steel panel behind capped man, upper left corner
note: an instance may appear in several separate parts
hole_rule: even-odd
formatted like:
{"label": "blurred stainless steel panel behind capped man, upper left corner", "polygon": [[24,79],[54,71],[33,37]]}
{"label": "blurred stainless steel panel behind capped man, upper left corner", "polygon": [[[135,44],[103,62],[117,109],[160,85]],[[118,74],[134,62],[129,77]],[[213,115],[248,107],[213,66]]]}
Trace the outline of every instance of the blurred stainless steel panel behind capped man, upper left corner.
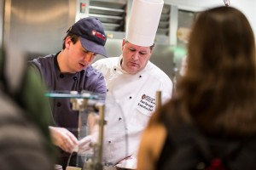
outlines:
{"label": "blurred stainless steel panel behind capped man, upper left corner", "polygon": [[75,14],[73,0],[5,0],[3,39],[31,58],[56,53]]}

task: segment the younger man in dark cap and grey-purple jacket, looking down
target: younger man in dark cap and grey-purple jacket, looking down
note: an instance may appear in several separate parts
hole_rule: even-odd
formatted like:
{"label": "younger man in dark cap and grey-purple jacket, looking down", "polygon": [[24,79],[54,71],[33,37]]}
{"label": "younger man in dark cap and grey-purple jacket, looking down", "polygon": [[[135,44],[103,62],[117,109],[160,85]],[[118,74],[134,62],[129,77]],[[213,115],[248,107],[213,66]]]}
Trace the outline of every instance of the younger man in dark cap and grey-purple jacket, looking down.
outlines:
{"label": "younger man in dark cap and grey-purple jacket, looking down", "polygon": [[[67,31],[61,52],[33,59],[31,64],[41,74],[49,91],[87,90],[106,94],[102,73],[90,64],[96,54],[107,57],[104,48],[107,37],[100,20],[86,17]],[[52,112],[55,127],[49,127],[55,145],[61,148],[61,164],[67,167],[70,153],[78,144],[78,111],[73,111],[70,99],[53,99]],[[71,159],[71,166],[75,166]]]}

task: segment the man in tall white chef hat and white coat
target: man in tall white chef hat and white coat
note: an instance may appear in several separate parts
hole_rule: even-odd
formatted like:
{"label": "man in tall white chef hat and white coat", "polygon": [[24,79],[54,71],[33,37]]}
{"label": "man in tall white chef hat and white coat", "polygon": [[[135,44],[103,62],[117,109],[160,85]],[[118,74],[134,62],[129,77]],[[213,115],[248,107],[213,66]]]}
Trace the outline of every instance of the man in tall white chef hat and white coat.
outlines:
{"label": "man in tall white chef hat and white coat", "polygon": [[149,61],[163,5],[163,0],[133,1],[122,54],[93,64],[107,82],[103,157],[113,165],[136,167],[141,134],[155,111],[156,92],[161,91],[162,102],[172,96],[171,79]]}

